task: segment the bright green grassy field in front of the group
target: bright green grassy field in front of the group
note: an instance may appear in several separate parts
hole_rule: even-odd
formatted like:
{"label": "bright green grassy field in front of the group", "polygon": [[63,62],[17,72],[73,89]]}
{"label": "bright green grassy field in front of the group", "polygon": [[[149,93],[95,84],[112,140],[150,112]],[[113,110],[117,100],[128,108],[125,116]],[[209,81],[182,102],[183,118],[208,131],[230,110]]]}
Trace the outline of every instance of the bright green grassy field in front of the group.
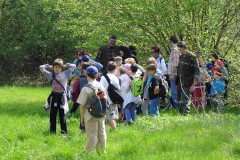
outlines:
{"label": "bright green grassy field in front of the group", "polygon": [[240,159],[240,111],[221,114],[193,109],[187,117],[167,110],[160,117],[138,117],[131,126],[118,123],[107,130],[104,154],[85,151],[86,135],[79,130],[79,110],[68,119],[69,134],[49,135],[49,112],[43,104],[50,87],[0,87],[0,159]]}

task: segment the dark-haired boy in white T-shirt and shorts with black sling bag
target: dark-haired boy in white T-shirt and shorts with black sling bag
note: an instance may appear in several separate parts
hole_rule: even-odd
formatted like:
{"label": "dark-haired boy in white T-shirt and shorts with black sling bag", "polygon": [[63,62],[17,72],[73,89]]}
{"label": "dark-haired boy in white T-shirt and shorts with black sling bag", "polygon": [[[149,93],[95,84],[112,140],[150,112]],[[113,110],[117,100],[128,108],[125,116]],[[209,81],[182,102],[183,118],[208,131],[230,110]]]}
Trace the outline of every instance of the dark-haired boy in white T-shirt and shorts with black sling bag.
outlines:
{"label": "dark-haired boy in white T-shirt and shorts with black sling bag", "polygon": [[[117,66],[116,63],[113,61],[110,61],[107,65],[107,71],[108,73],[106,74],[106,76],[110,79],[110,83],[113,84],[116,88],[120,89],[120,85],[119,85],[119,80],[118,78],[114,75],[114,72],[116,70]],[[100,83],[103,85],[104,88],[108,88],[109,84],[108,81],[106,80],[106,78],[104,76],[102,76]],[[118,105],[114,104],[111,99],[109,98],[108,92],[107,93],[107,99],[108,99],[108,104],[109,107],[107,109],[107,117],[106,119],[109,122],[109,125],[111,127],[111,130],[115,130],[116,129],[116,120],[118,119]]]}

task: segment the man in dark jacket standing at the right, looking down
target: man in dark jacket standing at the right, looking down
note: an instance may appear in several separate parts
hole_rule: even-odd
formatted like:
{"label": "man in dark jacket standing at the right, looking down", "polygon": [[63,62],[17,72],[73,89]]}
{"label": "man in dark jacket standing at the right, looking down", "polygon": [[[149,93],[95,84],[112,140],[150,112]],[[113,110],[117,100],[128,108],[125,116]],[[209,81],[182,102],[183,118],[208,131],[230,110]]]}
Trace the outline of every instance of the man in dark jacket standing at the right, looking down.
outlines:
{"label": "man in dark jacket standing at the right, looking down", "polygon": [[187,116],[190,111],[188,101],[191,101],[190,94],[194,92],[194,87],[198,82],[200,74],[196,56],[188,50],[184,41],[177,44],[181,53],[177,68],[177,96],[179,112]]}

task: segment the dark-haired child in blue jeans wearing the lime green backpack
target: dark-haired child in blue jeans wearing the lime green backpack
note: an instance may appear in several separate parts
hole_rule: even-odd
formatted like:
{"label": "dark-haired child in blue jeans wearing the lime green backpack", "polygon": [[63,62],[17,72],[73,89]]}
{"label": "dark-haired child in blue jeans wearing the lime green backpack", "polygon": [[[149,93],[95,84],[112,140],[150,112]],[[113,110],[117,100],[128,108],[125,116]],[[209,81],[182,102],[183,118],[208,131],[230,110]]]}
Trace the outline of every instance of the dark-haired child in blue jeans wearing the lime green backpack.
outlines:
{"label": "dark-haired child in blue jeans wearing the lime green backpack", "polygon": [[125,111],[125,116],[126,116],[126,121],[125,123],[130,124],[131,121],[135,120],[136,117],[136,109],[137,105],[141,102],[141,97],[139,96],[134,96],[131,91],[131,78],[136,77],[136,72],[138,70],[138,66],[136,64],[132,64],[130,66],[130,71],[131,71],[131,76],[127,75],[127,82],[128,86],[125,87],[127,90],[127,94],[124,96],[124,102],[123,102],[123,109]]}

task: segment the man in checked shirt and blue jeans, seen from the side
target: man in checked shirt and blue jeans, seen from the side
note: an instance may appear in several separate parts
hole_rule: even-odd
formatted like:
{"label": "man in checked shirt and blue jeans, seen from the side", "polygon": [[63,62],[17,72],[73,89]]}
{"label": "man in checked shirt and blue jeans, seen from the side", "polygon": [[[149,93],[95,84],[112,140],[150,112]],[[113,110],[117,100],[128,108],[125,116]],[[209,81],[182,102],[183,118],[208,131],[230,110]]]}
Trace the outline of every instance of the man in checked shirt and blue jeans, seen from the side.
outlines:
{"label": "man in checked shirt and blue jeans, seen from the side", "polygon": [[177,77],[177,66],[179,61],[180,53],[178,51],[177,47],[178,39],[176,36],[170,37],[170,45],[171,53],[168,61],[168,76],[170,81],[170,90],[171,90],[171,97],[172,97],[172,105],[175,109],[178,108],[178,102],[177,102],[177,91],[176,91],[176,77]]}

